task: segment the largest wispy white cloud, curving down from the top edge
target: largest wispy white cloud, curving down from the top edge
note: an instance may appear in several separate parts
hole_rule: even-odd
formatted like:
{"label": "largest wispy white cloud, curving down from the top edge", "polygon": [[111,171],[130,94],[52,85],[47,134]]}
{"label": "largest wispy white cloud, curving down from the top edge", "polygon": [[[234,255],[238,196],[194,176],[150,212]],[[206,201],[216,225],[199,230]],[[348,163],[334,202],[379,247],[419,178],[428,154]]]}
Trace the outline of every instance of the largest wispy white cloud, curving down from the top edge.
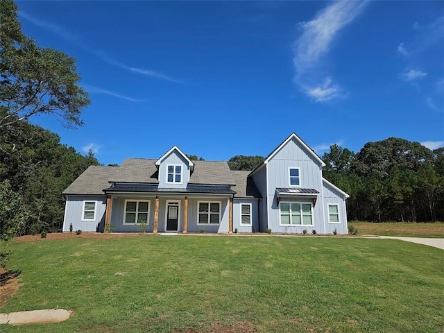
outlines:
{"label": "largest wispy white cloud, curving down from the top edge", "polygon": [[344,96],[338,83],[330,76],[319,75],[321,59],[342,28],[350,24],[368,1],[336,1],[316,14],[309,22],[300,23],[302,34],[294,45],[294,81],[314,101],[332,101]]}

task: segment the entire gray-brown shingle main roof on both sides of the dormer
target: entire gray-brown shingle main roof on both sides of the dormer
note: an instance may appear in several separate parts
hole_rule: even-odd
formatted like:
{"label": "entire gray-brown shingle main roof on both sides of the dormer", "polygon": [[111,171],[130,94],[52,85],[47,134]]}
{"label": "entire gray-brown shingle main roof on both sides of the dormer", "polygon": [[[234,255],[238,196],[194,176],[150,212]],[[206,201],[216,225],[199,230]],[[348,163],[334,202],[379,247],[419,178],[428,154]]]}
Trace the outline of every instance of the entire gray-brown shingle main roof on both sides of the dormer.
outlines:
{"label": "entire gray-brown shingle main roof on both sides of the dormer", "polygon": [[[103,195],[110,182],[137,182],[157,184],[158,171],[153,159],[128,158],[120,167],[89,167],[63,194]],[[198,185],[233,185],[232,190],[241,198],[260,198],[250,171],[232,171],[227,162],[193,161],[194,172],[189,183]]]}

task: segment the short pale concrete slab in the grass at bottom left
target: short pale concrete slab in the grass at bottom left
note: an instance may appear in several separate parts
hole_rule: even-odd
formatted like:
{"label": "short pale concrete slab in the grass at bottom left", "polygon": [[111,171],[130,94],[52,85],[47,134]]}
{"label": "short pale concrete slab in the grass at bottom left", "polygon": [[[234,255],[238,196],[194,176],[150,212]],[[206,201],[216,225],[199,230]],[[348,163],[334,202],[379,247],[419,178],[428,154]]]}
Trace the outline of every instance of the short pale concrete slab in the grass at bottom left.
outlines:
{"label": "short pale concrete slab in the grass at bottom left", "polygon": [[65,309],[11,312],[10,314],[0,314],[0,324],[60,323],[66,321],[69,316],[71,316],[71,311]]}

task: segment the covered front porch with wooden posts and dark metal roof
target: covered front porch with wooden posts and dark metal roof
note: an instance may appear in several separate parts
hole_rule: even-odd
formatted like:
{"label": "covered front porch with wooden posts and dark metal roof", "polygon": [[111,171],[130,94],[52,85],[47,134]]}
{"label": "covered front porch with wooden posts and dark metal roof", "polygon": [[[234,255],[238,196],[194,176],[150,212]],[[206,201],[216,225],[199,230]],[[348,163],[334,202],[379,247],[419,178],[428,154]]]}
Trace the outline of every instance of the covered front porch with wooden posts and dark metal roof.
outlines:
{"label": "covered front porch with wooden posts and dark metal roof", "polygon": [[104,230],[112,232],[233,231],[233,196],[228,187],[113,185],[107,195]]}

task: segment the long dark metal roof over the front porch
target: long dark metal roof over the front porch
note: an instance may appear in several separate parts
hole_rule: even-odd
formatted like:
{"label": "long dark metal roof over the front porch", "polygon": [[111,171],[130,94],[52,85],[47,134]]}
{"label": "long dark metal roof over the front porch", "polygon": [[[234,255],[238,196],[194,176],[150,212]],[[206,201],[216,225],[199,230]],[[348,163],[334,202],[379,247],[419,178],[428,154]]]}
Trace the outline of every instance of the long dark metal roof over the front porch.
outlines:
{"label": "long dark metal roof over the front porch", "polygon": [[167,192],[167,193],[184,193],[184,194],[236,194],[235,191],[227,187],[186,187],[185,189],[163,189],[157,187],[157,185],[115,185],[103,189],[106,192]]}

